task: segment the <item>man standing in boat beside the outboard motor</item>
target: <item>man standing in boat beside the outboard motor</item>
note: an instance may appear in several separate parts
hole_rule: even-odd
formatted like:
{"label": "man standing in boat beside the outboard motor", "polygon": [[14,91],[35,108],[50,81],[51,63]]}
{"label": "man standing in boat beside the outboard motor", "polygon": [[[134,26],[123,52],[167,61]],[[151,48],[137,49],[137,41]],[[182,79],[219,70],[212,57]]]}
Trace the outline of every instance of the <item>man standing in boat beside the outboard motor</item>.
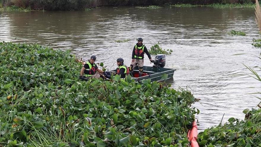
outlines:
{"label": "man standing in boat beside the outboard motor", "polygon": [[143,42],[143,39],[138,38],[138,43],[134,46],[134,48],[132,50],[131,63],[130,63],[130,72],[132,72],[133,68],[138,65],[140,76],[143,72],[144,53],[146,53],[147,56],[149,57],[149,61],[152,61],[151,56],[150,56],[146,46],[142,42]]}

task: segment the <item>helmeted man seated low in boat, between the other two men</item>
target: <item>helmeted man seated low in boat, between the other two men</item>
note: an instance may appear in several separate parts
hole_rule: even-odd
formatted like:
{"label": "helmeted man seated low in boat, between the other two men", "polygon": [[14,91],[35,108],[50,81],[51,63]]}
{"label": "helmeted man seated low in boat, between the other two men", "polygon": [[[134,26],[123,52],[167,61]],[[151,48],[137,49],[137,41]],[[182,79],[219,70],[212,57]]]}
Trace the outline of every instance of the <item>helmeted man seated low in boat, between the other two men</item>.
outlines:
{"label": "helmeted man seated low in boat, between the other two men", "polygon": [[111,78],[111,75],[115,75],[118,74],[120,75],[120,78],[125,78],[126,75],[129,75],[129,68],[123,63],[124,60],[122,58],[118,58],[117,59],[117,69],[116,69],[116,73],[114,73],[113,71],[106,71],[104,72],[104,76],[106,78]]}

